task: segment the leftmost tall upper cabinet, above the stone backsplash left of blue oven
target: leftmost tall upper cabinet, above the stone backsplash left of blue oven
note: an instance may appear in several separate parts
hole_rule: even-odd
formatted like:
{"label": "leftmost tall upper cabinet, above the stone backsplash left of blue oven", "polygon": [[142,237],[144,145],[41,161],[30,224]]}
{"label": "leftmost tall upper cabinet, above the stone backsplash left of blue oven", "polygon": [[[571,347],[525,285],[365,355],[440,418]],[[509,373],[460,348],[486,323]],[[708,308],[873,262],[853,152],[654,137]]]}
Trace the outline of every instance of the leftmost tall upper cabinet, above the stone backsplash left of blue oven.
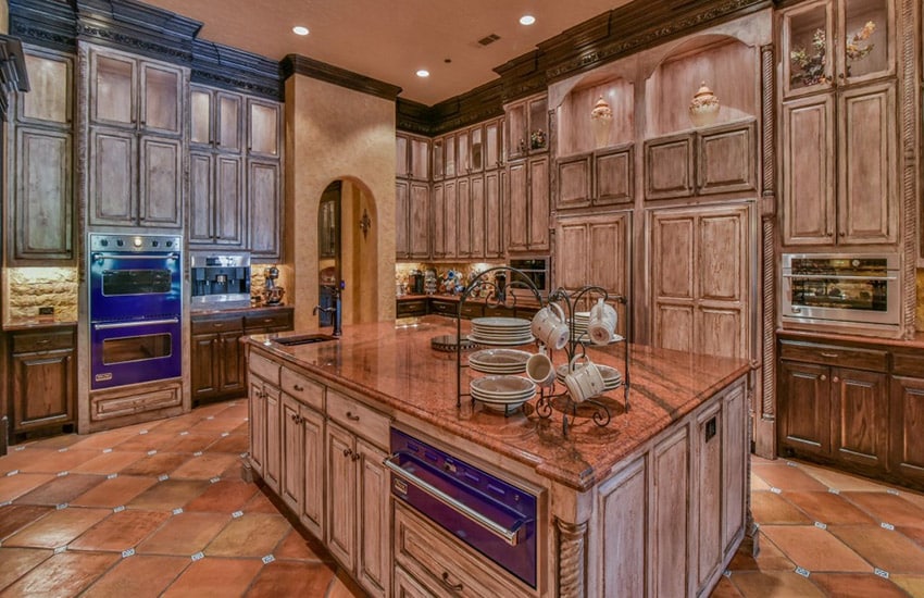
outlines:
{"label": "leftmost tall upper cabinet, above the stone backsplash left of blue oven", "polygon": [[24,58],[32,90],[12,97],[7,136],[11,265],[74,258],[74,59],[38,48]]}

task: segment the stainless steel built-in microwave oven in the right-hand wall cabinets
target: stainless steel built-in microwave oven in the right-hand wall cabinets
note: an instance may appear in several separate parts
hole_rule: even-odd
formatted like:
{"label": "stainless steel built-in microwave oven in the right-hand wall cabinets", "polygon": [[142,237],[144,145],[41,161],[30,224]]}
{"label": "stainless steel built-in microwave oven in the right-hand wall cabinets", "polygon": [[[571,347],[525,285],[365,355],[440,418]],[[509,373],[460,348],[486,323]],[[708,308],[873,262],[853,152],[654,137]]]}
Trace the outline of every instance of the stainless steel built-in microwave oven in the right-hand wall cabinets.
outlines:
{"label": "stainless steel built-in microwave oven in the right-hand wall cabinets", "polygon": [[783,323],[898,326],[897,254],[785,253]]}

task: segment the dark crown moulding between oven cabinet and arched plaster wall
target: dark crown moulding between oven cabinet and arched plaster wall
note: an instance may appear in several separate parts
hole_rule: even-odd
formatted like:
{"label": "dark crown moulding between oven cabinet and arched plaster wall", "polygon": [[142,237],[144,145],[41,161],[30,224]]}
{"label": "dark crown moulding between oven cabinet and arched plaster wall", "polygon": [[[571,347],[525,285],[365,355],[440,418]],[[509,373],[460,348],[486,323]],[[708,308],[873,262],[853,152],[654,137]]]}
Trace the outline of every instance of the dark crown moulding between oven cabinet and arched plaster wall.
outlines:
{"label": "dark crown moulding between oven cabinet and arched plaster wall", "polygon": [[192,43],[190,80],[278,101],[285,98],[278,62],[204,39]]}

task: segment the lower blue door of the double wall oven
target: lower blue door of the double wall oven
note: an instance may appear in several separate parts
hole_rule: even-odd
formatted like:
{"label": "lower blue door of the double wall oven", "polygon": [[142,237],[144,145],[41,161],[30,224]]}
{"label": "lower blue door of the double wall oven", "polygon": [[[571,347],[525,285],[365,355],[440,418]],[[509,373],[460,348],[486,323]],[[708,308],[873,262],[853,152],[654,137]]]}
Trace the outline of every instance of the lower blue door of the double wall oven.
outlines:
{"label": "lower blue door of the double wall oven", "polygon": [[92,388],[175,378],[182,374],[178,317],[91,325]]}

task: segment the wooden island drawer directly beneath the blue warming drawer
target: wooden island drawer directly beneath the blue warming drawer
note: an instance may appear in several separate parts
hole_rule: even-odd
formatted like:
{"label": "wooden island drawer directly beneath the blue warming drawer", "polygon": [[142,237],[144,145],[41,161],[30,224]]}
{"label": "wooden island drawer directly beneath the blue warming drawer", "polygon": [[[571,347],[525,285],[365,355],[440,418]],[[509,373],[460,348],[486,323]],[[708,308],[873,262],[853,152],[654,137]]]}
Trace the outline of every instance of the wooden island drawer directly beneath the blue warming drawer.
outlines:
{"label": "wooden island drawer directly beneath the blue warming drawer", "polygon": [[395,504],[395,560],[414,577],[452,596],[530,596],[510,575],[426,523],[408,507]]}

